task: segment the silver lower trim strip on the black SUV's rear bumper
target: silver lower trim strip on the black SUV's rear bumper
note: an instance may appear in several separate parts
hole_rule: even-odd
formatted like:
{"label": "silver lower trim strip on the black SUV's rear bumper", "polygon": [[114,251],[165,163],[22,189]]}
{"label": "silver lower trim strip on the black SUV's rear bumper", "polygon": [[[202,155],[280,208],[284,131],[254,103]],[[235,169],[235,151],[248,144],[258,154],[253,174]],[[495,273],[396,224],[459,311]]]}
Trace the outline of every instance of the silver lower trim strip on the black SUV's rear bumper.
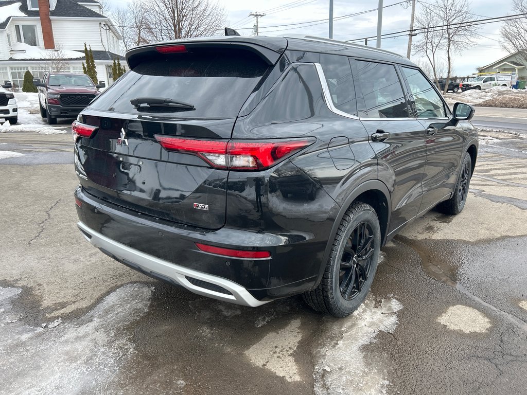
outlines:
{"label": "silver lower trim strip on the black SUV's rear bumper", "polygon": [[[267,303],[267,301],[259,301],[240,284],[237,284],[233,281],[224,279],[216,275],[199,272],[197,270],[189,268],[184,268],[183,266],[156,258],[155,256],[145,254],[144,252],[138,250],[134,250],[128,245],[121,244],[119,242],[107,238],[99,232],[95,232],[82,222],[77,222],[77,226],[84,234],[86,240],[92,243],[95,247],[102,248],[119,259],[129,261],[139,266],[139,268],[141,268],[145,272],[150,272],[154,275],[160,274],[161,276],[167,277],[193,293],[197,293],[199,295],[203,295],[213,299],[222,300],[225,302],[231,302],[250,307],[257,307]],[[88,237],[86,234],[89,234],[91,238]],[[232,295],[198,287],[197,285],[190,283],[185,276],[193,277],[198,280],[219,285],[220,287],[225,288],[230,293],[232,293]]]}

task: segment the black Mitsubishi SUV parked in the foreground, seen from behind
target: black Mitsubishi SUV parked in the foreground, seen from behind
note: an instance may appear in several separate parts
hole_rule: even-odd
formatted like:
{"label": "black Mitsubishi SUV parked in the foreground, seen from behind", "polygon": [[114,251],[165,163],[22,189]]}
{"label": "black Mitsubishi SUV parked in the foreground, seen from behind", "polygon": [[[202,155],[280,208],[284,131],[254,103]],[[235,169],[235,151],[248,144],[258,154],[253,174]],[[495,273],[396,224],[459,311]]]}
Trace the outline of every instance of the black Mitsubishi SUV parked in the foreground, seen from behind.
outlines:
{"label": "black Mitsubishi SUV parked in the foreground, seen from behind", "polygon": [[316,37],[136,47],[72,125],[78,226],[115,260],[256,307],[343,317],[379,249],[465,204],[474,109],[406,58]]}

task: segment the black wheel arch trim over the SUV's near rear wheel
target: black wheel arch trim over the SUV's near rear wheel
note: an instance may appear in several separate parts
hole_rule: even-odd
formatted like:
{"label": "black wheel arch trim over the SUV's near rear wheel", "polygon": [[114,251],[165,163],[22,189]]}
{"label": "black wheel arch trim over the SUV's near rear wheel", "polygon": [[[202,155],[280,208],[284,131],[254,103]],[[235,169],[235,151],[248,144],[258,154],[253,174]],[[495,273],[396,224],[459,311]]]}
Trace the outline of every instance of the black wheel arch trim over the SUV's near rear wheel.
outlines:
{"label": "black wheel arch trim over the SUV's near rear wheel", "polygon": [[320,262],[318,277],[314,288],[318,286],[322,280],[322,276],[324,275],[326,262],[329,259],[331,246],[333,246],[333,241],[335,239],[335,235],[337,234],[340,221],[343,219],[344,214],[348,210],[349,206],[354,202],[363,202],[369,204],[375,210],[377,218],[379,219],[380,245],[383,246],[385,244],[390,215],[392,213],[392,200],[390,193],[388,187],[379,180],[365,181],[358,185],[351,193],[349,193],[346,200],[344,200],[344,202],[339,206],[338,213],[335,216],[335,222],[333,223],[333,226],[331,226],[331,232],[328,235],[326,250],[324,251],[323,260]]}

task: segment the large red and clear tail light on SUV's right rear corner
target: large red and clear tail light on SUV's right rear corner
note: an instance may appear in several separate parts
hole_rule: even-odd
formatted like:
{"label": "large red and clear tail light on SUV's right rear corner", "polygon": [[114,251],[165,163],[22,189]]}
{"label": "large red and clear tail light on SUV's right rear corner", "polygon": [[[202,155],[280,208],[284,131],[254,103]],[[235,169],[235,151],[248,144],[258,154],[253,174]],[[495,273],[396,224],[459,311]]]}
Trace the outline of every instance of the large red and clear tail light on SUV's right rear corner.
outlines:
{"label": "large red and clear tail light on SUV's right rear corner", "polygon": [[167,151],[201,157],[216,169],[264,170],[313,144],[314,139],[268,140],[191,140],[156,134]]}

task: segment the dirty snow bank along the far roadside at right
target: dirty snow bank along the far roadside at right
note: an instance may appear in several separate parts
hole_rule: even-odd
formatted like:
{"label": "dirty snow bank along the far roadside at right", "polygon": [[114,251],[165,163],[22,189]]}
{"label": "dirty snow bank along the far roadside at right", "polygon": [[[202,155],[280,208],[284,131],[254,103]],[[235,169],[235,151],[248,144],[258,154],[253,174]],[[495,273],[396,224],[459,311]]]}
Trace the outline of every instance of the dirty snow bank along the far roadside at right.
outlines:
{"label": "dirty snow bank along the far roadside at right", "polygon": [[506,86],[494,86],[484,91],[471,89],[463,93],[444,95],[448,104],[456,102],[481,107],[527,108],[527,90],[515,90]]}

